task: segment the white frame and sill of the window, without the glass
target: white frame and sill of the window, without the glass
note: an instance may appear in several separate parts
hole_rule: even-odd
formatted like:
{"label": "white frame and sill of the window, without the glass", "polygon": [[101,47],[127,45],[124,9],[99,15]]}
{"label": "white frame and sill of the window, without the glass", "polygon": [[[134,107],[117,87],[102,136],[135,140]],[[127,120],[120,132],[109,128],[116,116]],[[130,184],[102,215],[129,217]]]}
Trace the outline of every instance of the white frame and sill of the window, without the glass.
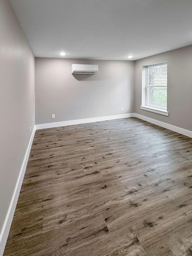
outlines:
{"label": "white frame and sill of the window, without the glass", "polygon": [[[162,115],[165,115],[165,116],[168,116],[169,115],[169,112],[167,112],[167,108],[162,108],[162,107],[156,107],[156,106],[152,106],[152,105],[149,105],[149,101],[148,101],[148,96],[149,96],[149,71],[148,71],[148,68],[149,67],[154,67],[154,66],[160,66],[160,65],[166,65],[167,62],[161,62],[161,63],[157,63],[157,64],[153,64],[153,65],[147,65],[147,66],[143,66],[143,68],[146,70],[145,72],[142,71],[142,94],[145,93],[145,95],[142,95],[142,106],[140,106],[140,109],[143,109],[143,110],[147,110],[147,111],[150,111],[150,112],[154,112],[154,113],[158,113],[158,114],[162,114]],[[143,76],[146,76],[145,78],[145,82],[143,80]],[[145,84],[144,84],[145,83]],[[144,84],[144,85],[143,85]],[[145,88],[144,88],[145,87]],[[162,86],[162,85],[155,85],[153,87],[166,87],[167,86]],[[145,90],[144,90],[145,89]],[[143,91],[144,90],[144,91]],[[143,99],[145,98],[145,102],[143,102]],[[144,104],[143,104],[144,103]]]}

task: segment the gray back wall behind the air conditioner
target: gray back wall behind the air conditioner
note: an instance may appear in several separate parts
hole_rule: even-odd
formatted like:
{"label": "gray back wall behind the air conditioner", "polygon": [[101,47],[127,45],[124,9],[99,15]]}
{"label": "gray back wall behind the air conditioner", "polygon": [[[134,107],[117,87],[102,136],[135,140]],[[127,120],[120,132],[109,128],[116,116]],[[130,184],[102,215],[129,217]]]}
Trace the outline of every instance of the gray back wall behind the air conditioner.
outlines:
{"label": "gray back wall behind the air conditioner", "polygon": [[[96,64],[98,74],[73,75],[71,64]],[[133,61],[35,58],[36,125],[126,113],[134,113]]]}

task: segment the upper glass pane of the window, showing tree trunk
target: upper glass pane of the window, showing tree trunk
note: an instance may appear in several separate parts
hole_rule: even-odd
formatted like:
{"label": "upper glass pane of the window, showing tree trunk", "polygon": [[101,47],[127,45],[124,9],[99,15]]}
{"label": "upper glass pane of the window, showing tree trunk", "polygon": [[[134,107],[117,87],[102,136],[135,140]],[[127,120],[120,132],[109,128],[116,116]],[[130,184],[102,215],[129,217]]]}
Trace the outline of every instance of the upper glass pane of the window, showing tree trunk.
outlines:
{"label": "upper glass pane of the window, showing tree trunk", "polygon": [[167,64],[148,67],[149,85],[167,85]]}

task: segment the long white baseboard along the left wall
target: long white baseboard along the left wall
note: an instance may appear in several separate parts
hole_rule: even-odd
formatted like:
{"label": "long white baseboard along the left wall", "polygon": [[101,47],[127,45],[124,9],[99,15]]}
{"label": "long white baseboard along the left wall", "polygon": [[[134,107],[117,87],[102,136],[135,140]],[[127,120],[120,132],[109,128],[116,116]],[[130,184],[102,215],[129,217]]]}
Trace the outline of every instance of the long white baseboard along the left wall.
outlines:
{"label": "long white baseboard along the left wall", "polygon": [[17,183],[16,183],[16,187],[15,187],[15,190],[14,190],[14,193],[13,193],[13,197],[12,197],[12,200],[11,200],[8,212],[7,212],[7,216],[5,218],[5,222],[4,222],[1,234],[0,234],[0,256],[3,255],[4,248],[5,248],[5,245],[6,245],[6,242],[7,242],[7,237],[9,235],[9,230],[10,230],[11,223],[12,223],[12,220],[13,220],[13,215],[15,213],[17,200],[19,198],[19,193],[20,193],[20,190],[21,190],[23,177],[24,177],[24,174],[25,174],[25,171],[26,171],[27,162],[28,162],[28,159],[29,159],[30,151],[31,151],[31,146],[32,146],[34,135],[35,135],[35,130],[36,129],[35,129],[35,126],[34,126],[33,131],[32,131],[32,135],[31,135],[31,138],[30,138],[30,141],[29,141],[29,145],[28,145],[28,148],[27,148],[27,151],[26,151],[23,163],[22,163],[22,167],[21,167],[21,170],[20,170],[20,173],[19,173],[19,177],[17,179]]}

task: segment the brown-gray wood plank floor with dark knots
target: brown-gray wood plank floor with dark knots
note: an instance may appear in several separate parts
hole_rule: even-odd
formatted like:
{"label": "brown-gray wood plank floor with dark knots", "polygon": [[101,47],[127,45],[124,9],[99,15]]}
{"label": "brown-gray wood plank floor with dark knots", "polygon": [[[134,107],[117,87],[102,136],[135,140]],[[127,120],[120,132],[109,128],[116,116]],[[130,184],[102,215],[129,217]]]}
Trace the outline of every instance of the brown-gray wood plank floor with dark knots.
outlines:
{"label": "brown-gray wood plank floor with dark knots", "polygon": [[36,131],[11,255],[192,255],[192,139],[137,118]]}

